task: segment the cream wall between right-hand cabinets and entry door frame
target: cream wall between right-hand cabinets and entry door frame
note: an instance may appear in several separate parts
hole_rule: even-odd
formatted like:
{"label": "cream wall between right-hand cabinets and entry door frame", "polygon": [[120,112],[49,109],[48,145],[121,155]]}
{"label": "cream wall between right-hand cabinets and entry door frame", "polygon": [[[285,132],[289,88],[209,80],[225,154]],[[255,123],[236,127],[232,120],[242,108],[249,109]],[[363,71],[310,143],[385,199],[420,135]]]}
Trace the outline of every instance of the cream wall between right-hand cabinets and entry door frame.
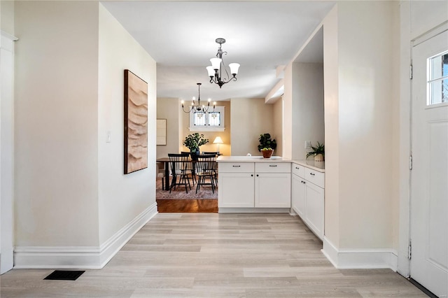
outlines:
{"label": "cream wall between right-hand cabinets and entry door frame", "polygon": [[393,257],[395,5],[339,1],[323,24],[327,253],[325,242]]}

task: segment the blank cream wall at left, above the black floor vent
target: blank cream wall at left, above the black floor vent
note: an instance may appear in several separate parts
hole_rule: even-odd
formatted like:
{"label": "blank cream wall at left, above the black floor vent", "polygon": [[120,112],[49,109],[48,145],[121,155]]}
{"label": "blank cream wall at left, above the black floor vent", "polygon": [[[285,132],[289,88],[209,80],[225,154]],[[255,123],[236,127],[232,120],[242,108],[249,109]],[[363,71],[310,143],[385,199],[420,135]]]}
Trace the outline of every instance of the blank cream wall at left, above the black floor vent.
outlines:
{"label": "blank cream wall at left, above the black floor vent", "polygon": [[98,3],[15,1],[15,246],[99,246]]}

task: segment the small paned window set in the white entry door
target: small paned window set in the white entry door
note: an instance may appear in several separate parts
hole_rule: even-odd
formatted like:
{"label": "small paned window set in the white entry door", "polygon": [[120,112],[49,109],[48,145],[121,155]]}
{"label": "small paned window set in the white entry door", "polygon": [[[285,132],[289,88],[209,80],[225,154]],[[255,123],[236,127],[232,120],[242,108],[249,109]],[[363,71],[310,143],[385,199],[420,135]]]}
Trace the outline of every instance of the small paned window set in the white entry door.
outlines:
{"label": "small paned window set in the white entry door", "polygon": [[448,102],[448,51],[428,59],[427,105]]}

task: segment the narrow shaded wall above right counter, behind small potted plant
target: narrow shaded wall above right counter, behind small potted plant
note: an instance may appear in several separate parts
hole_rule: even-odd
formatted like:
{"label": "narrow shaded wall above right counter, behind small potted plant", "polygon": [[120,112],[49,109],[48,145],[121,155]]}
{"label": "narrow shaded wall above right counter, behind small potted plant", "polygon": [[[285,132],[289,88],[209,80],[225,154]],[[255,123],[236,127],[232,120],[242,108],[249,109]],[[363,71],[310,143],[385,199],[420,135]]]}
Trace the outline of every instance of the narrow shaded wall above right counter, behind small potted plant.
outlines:
{"label": "narrow shaded wall above right counter, behind small potted plant", "polygon": [[305,141],[325,142],[322,63],[293,63],[293,115],[293,159],[305,159]]}

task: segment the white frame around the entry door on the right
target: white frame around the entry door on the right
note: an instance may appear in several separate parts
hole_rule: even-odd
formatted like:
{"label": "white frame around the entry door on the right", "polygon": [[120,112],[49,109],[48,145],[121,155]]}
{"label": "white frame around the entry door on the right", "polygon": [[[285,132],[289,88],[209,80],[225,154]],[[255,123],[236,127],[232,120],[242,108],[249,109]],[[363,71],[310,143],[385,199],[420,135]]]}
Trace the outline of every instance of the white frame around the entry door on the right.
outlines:
{"label": "white frame around the entry door on the right", "polygon": [[[405,6],[409,13],[410,7]],[[399,222],[398,222],[398,264],[397,271],[405,277],[410,275],[410,260],[408,258],[409,243],[411,239],[411,175],[409,169],[412,156],[412,48],[423,41],[448,30],[448,21],[429,29],[425,33],[411,37],[410,21],[407,30],[402,30],[400,36],[400,162],[399,162]]]}

